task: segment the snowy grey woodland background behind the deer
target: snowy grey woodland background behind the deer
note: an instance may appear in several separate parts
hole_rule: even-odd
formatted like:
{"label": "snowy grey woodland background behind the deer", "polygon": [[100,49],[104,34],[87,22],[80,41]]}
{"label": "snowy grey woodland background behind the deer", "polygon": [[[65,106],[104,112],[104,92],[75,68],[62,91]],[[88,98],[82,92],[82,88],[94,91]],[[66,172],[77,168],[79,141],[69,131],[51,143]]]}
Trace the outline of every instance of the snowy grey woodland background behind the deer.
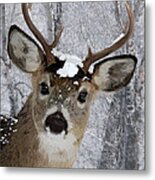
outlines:
{"label": "snowy grey woodland background behind the deer", "polygon": [[[102,93],[92,105],[75,168],[145,167],[144,1],[130,1],[130,4],[135,16],[132,38],[112,55],[135,55],[138,58],[135,75],[126,88],[115,93]],[[88,46],[96,52],[112,44],[128,20],[122,1],[34,4],[32,17],[49,42],[62,25],[64,31],[56,50],[80,59],[87,55]],[[31,92],[31,82],[30,75],[18,70],[7,55],[7,34],[12,24],[31,35],[20,4],[1,4],[0,114],[16,116]]]}

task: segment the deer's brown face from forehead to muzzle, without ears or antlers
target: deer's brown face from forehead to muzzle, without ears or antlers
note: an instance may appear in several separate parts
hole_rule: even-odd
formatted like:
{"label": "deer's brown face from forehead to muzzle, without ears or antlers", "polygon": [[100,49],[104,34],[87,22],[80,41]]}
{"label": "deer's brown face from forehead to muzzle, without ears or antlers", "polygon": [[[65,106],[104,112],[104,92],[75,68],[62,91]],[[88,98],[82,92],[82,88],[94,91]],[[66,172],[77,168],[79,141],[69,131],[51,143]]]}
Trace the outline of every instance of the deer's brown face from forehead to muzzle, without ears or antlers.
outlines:
{"label": "deer's brown face from forehead to muzzle, without ears or antlers", "polygon": [[72,133],[79,141],[89,116],[96,87],[87,80],[60,78],[38,72],[33,79],[34,118],[40,132],[58,136]]}

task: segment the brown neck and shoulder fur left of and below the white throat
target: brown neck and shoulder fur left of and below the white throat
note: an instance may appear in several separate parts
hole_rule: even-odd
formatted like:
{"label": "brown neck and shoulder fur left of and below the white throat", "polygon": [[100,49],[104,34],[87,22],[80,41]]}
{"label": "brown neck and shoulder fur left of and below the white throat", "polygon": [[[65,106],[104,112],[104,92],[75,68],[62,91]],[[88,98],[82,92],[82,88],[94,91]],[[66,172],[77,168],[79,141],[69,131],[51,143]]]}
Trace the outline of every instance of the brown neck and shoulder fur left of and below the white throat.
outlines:
{"label": "brown neck and shoulder fur left of and below the white throat", "polygon": [[[0,165],[7,167],[71,167],[73,162],[49,162],[38,151],[37,131],[31,117],[32,96],[19,113],[18,131],[13,134],[8,145],[0,151]],[[79,146],[79,142],[77,144]]]}

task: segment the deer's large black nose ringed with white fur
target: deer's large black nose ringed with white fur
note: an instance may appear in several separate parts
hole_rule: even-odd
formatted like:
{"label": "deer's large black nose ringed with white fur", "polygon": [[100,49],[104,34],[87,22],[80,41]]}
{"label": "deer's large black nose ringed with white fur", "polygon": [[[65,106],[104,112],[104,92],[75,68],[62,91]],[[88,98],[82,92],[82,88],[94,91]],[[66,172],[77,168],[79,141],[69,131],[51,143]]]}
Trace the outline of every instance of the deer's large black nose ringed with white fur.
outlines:
{"label": "deer's large black nose ringed with white fur", "polygon": [[49,128],[52,133],[59,134],[65,131],[67,134],[68,124],[61,112],[49,115],[45,120],[45,129]]}

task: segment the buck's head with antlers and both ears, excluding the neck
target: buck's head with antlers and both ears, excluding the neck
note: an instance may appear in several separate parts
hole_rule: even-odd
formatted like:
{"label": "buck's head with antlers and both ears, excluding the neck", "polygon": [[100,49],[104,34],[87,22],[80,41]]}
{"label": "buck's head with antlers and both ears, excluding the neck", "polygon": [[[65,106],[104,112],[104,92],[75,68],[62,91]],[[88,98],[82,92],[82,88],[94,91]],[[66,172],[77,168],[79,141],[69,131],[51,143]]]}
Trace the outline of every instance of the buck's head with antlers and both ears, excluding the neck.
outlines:
{"label": "buck's head with antlers and both ears, excluding the neck", "polygon": [[[137,62],[134,56],[105,58],[122,47],[133,31],[134,18],[127,3],[126,10],[129,25],[124,36],[99,52],[93,53],[89,48],[83,67],[78,67],[78,73],[74,77],[61,77],[57,71],[65,62],[60,61],[52,50],[63,29],[56,35],[54,42],[48,44],[33,24],[28,4],[22,4],[25,21],[42,47],[13,25],[9,31],[8,53],[17,67],[32,74],[32,120],[40,142],[45,145],[44,150],[48,148],[45,141],[51,141],[49,148],[55,148],[59,154],[70,152],[71,147],[77,150],[89,118],[90,104],[96,94],[100,91],[115,91],[130,82]],[[93,63],[94,71],[90,73],[88,70]]]}

